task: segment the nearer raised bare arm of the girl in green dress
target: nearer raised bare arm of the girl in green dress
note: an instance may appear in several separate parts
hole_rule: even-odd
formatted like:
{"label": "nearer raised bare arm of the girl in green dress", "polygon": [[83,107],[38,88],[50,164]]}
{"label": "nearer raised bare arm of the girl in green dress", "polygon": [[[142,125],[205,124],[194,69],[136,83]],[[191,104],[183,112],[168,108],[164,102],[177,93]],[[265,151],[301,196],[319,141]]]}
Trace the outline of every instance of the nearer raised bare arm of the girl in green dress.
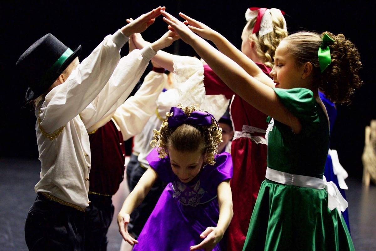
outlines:
{"label": "nearer raised bare arm of the girl in green dress", "polygon": [[237,63],[214,49],[172,15],[165,11],[162,11],[162,15],[165,16],[163,20],[169,24],[168,28],[177,33],[185,43],[190,44],[235,93],[261,112],[290,126],[295,133],[300,132],[302,126],[299,120],[282,105],[271,87],[250,76]]}

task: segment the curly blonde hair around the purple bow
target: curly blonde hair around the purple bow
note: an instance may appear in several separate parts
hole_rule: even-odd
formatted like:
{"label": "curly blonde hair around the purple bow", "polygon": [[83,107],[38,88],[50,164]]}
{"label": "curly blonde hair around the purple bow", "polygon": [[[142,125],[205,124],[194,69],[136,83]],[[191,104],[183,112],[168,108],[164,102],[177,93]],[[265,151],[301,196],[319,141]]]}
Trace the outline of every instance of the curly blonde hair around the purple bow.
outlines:
{"label": "curly blonde hair around the purple bow", "polygon": [[[198,110],[194,105],[183,107],[178,105],[177,107],[182,109],[187,116],[191,116],[193,111]],[[173,114],[166,113],[167,118],[171,116]],[[205,162],[209,165],[215,164],[217,148],[222,141],[222,129],[218,127],[215,119],[212,118],[210,126],[183,124],[175,128],[169,128],[168,122],[165,120],[159,131],[154,129],[153,132],[154,140],[150,142],[150,146],[156,148],[159,158],[166,157],[170,147],[179,152],[194,152],[200,149],[203,154],[206,154]]]}

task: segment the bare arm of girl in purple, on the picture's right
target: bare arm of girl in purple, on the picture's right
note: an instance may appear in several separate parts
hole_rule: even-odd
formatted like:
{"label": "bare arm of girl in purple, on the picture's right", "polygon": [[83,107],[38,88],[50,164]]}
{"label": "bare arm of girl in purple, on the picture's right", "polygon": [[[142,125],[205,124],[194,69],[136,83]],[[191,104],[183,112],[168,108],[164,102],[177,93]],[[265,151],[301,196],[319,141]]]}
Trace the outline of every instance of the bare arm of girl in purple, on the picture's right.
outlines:
{"label": "bare arm of girl in purple, on the picture's right", "polygon": [[212,250],[215,245],[222,239],[224,232],[229,227],[233,211],[232,211],[232,195],[230,180],[221,182],[217,188],[219,219],[217,227],[208,227],[200,234],[204,239],[200,244],[191,246],[190,251],[205,249]]}

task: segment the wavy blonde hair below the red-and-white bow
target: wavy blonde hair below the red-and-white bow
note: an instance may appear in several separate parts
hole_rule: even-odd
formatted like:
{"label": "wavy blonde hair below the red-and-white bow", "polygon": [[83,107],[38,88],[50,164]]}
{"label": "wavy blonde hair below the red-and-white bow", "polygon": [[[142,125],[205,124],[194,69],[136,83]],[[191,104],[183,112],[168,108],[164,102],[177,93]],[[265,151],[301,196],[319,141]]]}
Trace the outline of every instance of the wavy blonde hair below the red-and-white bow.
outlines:
{"label": "wavy blonde hair below the red-and-white bow", "polygon": [[273,24],[273,31],[260,36],[258,32],[252,33],[253,27],[257,17],[249,20],[246,24],[249,32],[249,41],[254,41],[256,45],[257,55],[264,61],[264,64],[273,68],[274,66],[274,54],[280,41],[288,36],[286,20],[279,9],[270,9],[271,20]]}

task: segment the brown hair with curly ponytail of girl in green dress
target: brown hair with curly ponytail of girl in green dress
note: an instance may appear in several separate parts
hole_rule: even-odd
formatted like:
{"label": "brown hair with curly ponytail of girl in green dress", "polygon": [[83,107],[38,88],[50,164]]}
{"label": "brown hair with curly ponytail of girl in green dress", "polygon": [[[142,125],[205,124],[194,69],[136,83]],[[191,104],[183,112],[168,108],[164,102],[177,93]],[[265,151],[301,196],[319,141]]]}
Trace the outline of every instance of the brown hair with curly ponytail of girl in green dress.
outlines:
{"label": "brown hair with curly ponytail of girl in green dress", "polygon": [[[328,43],[331,64],[321,73],[318,61],[318,48],[323,43],[323,36],[328,34],[334,42]],[[350,103],[350,96],[361,87],[359,70],[362,66],[360,54],[355,45],[343,34],[331,32],[297,32],[284,39],[290,53],[296,58],[297,66],[310,62],[313,67],[313,80],[317,87],[333,102]]]}

